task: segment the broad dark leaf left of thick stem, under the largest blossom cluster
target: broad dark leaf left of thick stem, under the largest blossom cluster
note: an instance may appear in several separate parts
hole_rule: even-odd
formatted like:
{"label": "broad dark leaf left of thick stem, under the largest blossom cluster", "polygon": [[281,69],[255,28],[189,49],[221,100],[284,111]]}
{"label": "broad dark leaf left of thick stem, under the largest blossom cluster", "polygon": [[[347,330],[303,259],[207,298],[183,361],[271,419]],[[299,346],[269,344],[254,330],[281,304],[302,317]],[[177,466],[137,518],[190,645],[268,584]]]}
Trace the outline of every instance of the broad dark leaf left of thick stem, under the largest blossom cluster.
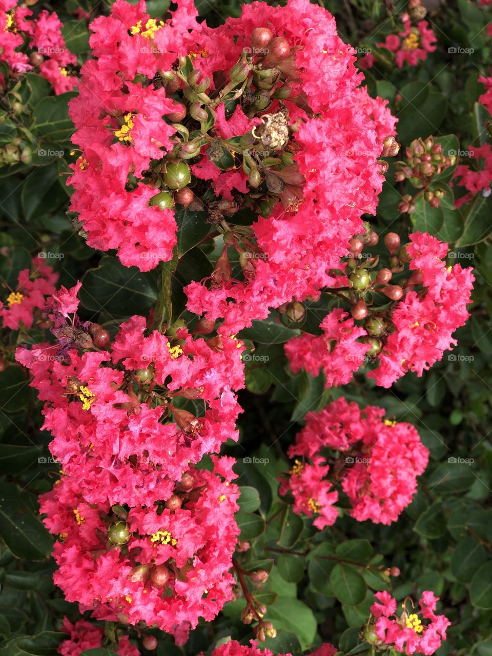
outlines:
{"label": "broad dark leaf left of thick stem, under the largest blossom cluster", "polygon": [[79,292],[81,304],[92,312],[107,312],[115,318],[148,314],[157,300],[155,274],[146,274],[136,266],[126,267],[111,256],[89,269]]}

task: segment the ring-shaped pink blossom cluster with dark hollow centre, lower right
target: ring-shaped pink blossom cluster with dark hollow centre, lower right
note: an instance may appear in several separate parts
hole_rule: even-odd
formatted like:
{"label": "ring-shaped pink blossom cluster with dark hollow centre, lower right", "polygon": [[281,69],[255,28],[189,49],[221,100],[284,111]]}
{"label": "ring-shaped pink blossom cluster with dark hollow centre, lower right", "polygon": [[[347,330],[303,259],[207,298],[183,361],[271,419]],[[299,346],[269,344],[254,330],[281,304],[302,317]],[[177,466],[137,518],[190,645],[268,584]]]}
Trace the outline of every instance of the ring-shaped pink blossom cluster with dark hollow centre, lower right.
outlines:
{"label": "ring-shaped pink blossom cluster with dark hollow centre, lower right", "polygon": [[339,514],[335,486],[340,483],[359,522],[398,520],[417,490],[428,449],[414,426],[383,417],[384,409],[361,410],[343,397],[308,413],[289,448],[295,464],[280,478],[281,494],[293,495],[294,512],[313,517],[319,529],[332,525]]}

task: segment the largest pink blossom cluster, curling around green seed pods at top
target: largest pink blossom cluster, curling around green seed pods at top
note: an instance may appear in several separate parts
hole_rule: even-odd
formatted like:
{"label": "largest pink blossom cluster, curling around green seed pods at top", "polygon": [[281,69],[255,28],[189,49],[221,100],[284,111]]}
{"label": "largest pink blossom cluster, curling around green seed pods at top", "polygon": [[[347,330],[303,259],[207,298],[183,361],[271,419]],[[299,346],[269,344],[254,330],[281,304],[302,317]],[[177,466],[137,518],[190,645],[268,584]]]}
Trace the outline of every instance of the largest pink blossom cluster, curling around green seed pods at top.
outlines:
{"label": "largest pink blossom cluster, curling around green seed pods at top", "polygon": [[218,28],[195,15],[182,2],[155,20],[117,0],[92,22],[70,102],[72,210],[89,245],[140,270],[171,259],[185,207],[203,211],[224,253],[188,285],[188,308],[236,332],[333,282],[327,268],[375,212],[396,119],[358,87],[355,51],[321,7],[253,3]]}

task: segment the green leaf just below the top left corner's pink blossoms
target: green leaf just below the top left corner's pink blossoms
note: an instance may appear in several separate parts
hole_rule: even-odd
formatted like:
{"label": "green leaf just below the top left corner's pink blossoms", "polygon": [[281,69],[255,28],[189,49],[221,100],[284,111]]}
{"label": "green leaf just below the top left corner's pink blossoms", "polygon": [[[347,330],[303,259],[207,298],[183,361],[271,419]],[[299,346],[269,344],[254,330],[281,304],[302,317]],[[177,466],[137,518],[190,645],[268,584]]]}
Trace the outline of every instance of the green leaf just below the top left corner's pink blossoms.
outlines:
{"label": "green leaf just below the top left corner's pink blossoms", "polygon": [[74,128],[68,116],[68,102],[77,93],[68,91],[59,96],[49,96],[40,100],[33,110],[31,132],[40,141],[64,144],[70,140]]}

